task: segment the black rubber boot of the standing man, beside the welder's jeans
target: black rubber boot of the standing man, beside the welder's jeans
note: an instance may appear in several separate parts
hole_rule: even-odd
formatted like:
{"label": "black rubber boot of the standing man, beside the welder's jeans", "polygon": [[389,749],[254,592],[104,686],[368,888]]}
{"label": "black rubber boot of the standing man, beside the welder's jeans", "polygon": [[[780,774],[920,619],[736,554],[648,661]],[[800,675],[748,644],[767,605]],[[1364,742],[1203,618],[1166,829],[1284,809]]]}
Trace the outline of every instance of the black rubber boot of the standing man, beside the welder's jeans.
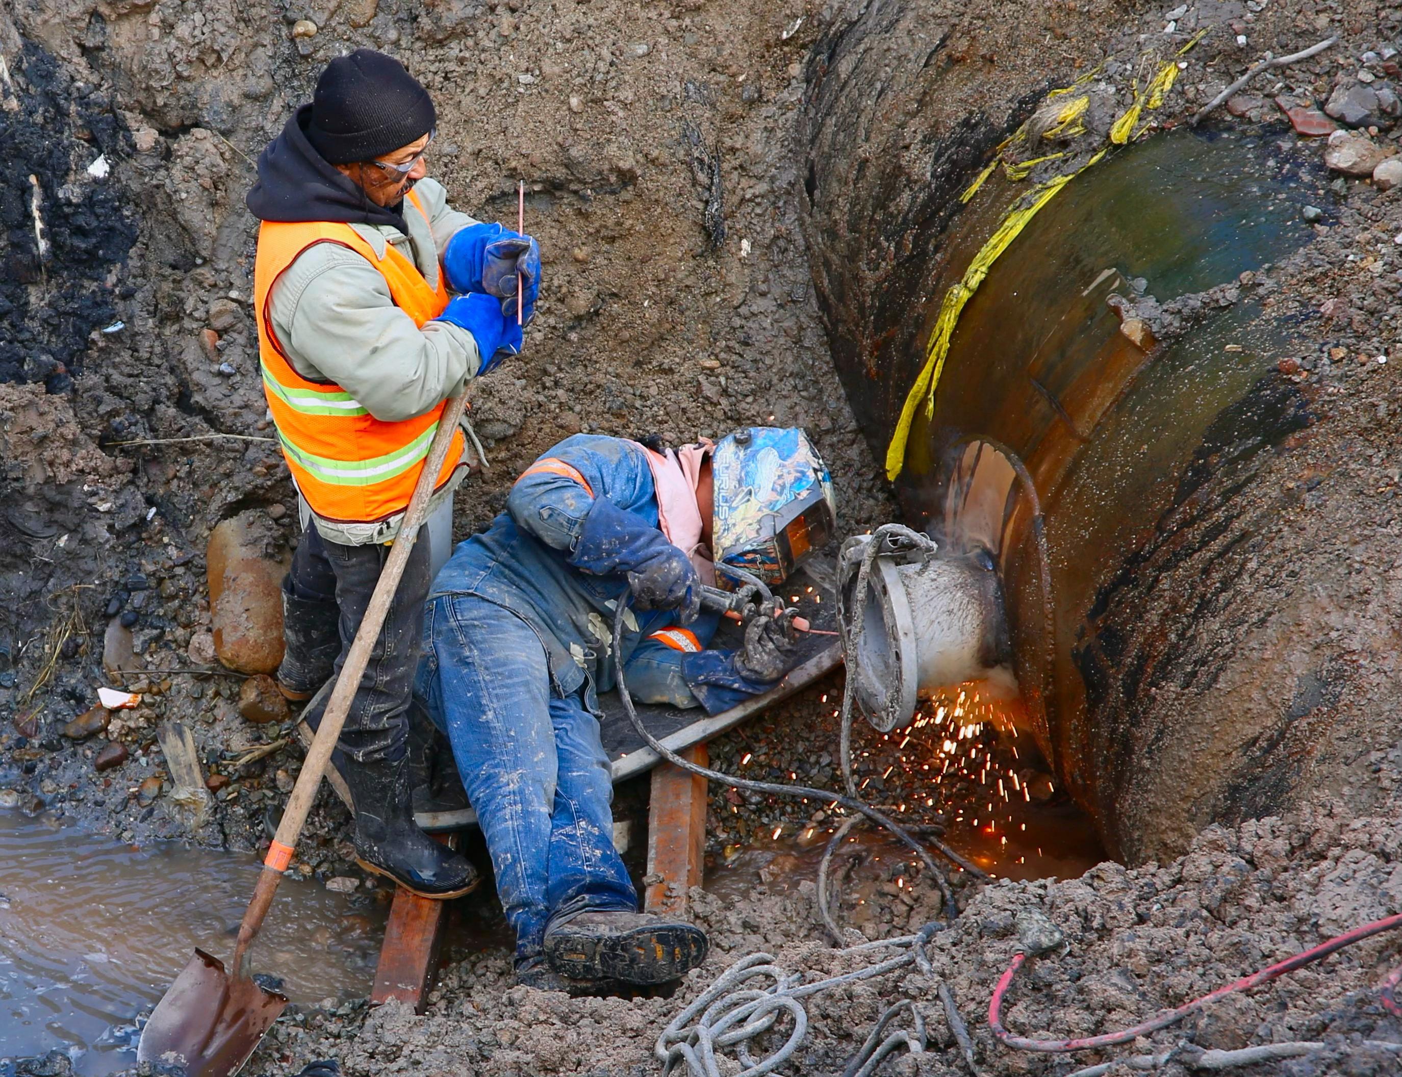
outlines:
{"label": "black rubber boot of the standing man, beside the welder's jeans", "polygon": [[407,759],[346,763],[343,777],[356,805],[353,844],[362,868],[421,898],[443,900],[477,889],[477,869],[414,825]]}

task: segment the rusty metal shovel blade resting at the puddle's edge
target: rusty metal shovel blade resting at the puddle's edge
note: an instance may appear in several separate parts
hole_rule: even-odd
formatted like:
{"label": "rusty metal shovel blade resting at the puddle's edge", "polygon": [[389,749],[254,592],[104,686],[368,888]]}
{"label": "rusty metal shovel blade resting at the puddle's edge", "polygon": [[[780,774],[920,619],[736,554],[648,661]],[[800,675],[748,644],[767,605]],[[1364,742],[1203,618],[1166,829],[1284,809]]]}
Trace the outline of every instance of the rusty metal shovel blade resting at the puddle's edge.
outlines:
{"label": "rusty metal shovel blade resting at the puddle's edge", "polygon": [[151,1012],[136,1059],[188,1077],[233,1077],[285,1005],[282,994],[230,976],[224,962],[196,949]]}

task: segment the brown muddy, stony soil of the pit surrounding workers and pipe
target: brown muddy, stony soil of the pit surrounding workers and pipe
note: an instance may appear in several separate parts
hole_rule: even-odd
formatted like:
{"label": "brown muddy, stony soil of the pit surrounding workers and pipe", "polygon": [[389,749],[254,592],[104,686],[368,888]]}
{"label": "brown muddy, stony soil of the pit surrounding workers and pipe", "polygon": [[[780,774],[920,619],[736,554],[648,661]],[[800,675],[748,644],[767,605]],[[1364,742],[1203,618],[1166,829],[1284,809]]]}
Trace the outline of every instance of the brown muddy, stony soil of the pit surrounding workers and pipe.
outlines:
{"label": "brown muddy, stony soil of the pit surrounding workers and pipe", "polygon": [[[944,48],[962,65],[966,100],[944,108],[951,118],[979,115],[988,130],[1007,128],[1022,98],[1064,84],[1106,55],[1127,59],[1140,34],[1164,28],[1157,8],[1110,3],[959,7]],[[269,429],[248,309],[254,227],[241,201],[251,158],[343,48],[395,52],[435,93],[442,119],[430,165],[457,206],[509,217],[516,180],[531,192],[527,226],[545,257],[541,313],[526,355],[477,387],[474,416],[492,466],[458,495],[460,537],[484,526],[515,474],[566,433],[658,432],[680,442],[771,416],[813,433],[837,480],[843,530],[889,519],[880,471],[829,362],[799,222],[806,153],[799,114],[822,60],[810,49],[864,8],[318,0],[205,10],[171,0],[6,0],[6,806],[62,811],[126,841],[178,836],[181,813],[139,790],[164,775],[156,726],[179,719],[195,733],[206,773],[230,778],[196,837],[240,848],[266,840],[265,813],[296,773],[296,753],[233,767],[279,735],[240,718],[233,704],[240,680],[153,670],[202,666],[207,658],[203,551],[217,522],[252,512],[269,557],[285,555],[294,540],[292,489],[273,446],[243,440],[265,439]],[[293,38],[303,18],[318,31]],[[1318,74],[1300,80],[1328,90],[1366,50],[1398,46],[1395,11],[1367,3],[1272,0],[1259,13],[1213,4],[1203,20],[1232,32],[1203,41],[1165,116],[1182,115],[1190,98],[1206,100],[1265,48],[1281,52],[1340,32]],[[1235,43],[1238,32],[1248,45]],[[1280,81],[1293,86],[1286,76]],[[1263,79],[1259,91],[1272,86]],[[111,167],[107,177],[90,174],[100,156]],[[1288,487],[1291,499],[1356,505],[1352,516],[1332,517],[1353,526],[1319,541],[1338,547],[1340,572],[1347,565],[1340,586],[1367,602],[1350,604],[1347,620],[1326,631],[1357,639],[1354,662],[1377,698],[1396,645],[1392,593],[1402,550],[1394,550],[1380,499],[1389,501],[1398,482],[1402,355],[1385,365],[1375,351],[1368,362],[1359,355],[1375,339],[1384,349],[1398,342],[1402,198],[1354,180],[1335,198],[1319,240],[1279,286],[1291,302],[1328,302],[1329,332],[1345,351],[1291,370],[1328,407],[1277,466],[1298,468],[1288,480],[1297,484]],[[1385,330],[1384,316],[1392,320]],[[1304,331],[1322,341],[1318,324]],[[198,440],[167,440],[181,438]],[[165,443],[118,445],[150,440]],[[1319,487],[1315,480],[1326,475],[1329,485]],[[102,673],[114,618],[130,631],[146,672]],[[1211,613],[1204,634],[1214,624],[1230,630],[1228,617]],[[116,630],[112,635],[125,642]],[[97,686],[116,682],[143,693],[142,708],[118,715],[121,725],[104,736],[77,743],[63,736],[62,726],[93,707]],[[806,694],[777,721],[798,724],[784,740],[826,742],[831,760],[836,729],[824,691],[840,687]],[[129,757],[95,774],[104,739],[122,743]],[[733,759],[739,743],[718,745],[715,754]],[[820,754],[805,759],[809,773],[824,766]],[[1009,1024],[1056,1035],[1130,1024],[1402,910],[1399,768],[1395,752],[1360,746],[1352,770],[1319,802],[1287,818],[1209,830],[1166,865],[1112,864],[1068,882],[962,888],[967,907],[932,954],[970,1020],[983,1066],[1073,1069],[997,1048],[981,1017],[1012,945],[1012,914],[1025,905],[1046,910],[1073,951],[1026,975]],[[798,826],[810,812],[733,805],[715,790],[712,851],[761,825]],[[728,819],[740,816],[744,823]],[[342,827],[338,808],[318,813],[300,855],[306,874],[346,874]],[[928,882],[913,882],[883,892],[887,907],[859,917],[866,937],[897,934],[935,914]],[[486,952],[444,972],[422,1018],[393,1007],[303,1010],[278,1028],[252,1071],[294,1073],[307,1059],[331,1055],[356,1074],[652,1073],[660,1028],[735,958],[763,948],[805,972],[866,961],[827,949],[808,890],[770,895],[757,885],[743,902],[702,895],[695,902],[714,931],[715,955],[673,998],[568,1003],[510,989],[505,952]],[[1353,1041],[1402,1039],[1402,1024],[1382,1012],[1374,990],[1398,961],[1395,942],[1364,944],[1330,959],[1325,972],[1297,975],[1159,1034],[1155,1048],[1185,1036],[1217,1048],[1328,1036],[1329,1055],[1263,1071],[1394,1073],[1396,1056]],[[930,1000],[931,987],[901,972],[819,996],[809,1004],[808,1046],[791,1071],[841,1071],[883,1004]],[[948,1045],[930,1012],[934,1041]],[[918,1063],[890,1064],[927,1073],[960,1066],[944,1048]]]}

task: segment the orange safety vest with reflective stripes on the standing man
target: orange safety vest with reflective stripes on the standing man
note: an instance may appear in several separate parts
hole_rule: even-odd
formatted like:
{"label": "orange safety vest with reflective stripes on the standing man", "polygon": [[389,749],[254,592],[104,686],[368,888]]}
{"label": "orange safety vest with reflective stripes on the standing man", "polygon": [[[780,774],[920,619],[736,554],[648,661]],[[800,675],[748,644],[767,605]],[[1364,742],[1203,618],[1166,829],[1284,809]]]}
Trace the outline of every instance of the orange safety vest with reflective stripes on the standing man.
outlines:
{"label": "orange safety vest with reflective stripes on the standing man", "polygon": [[[409,202],[426,220],[428,213],[412,191]],[[379,269],[394,304],[414,318],[415,325],[422,327],[443,313],[447,287],[442,268],[430,287],[418,266],[393,244],[386,245],[381,261],[349,224],[265,220],[258,230],[254,265],[258,358],[282,454],[297,489],[317,516],[336,523],[377,523],[408,508],[443,402],[412,419],[386,422],[360,407],[341,386],[308,381],[293,369],[273,332],[268,299],[278,278],[318,243],[348,247]],[[463,432],[456,431],[435,488],[440,489],[461,463]]]}

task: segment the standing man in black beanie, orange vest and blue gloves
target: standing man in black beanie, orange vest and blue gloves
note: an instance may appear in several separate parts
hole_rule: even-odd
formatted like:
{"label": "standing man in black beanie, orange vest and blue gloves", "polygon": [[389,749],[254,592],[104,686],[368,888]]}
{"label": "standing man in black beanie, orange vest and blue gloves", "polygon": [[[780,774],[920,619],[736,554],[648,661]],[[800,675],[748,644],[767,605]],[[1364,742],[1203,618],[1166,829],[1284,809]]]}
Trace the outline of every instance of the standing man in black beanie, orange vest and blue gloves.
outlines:
{"label": "standing man in black beanie, orange vest and blue gloves", "polygon": [[[425,178],[435,119],[428,91],[397,60],[358,49],[327,65],[311,104],[264,149],[248,194],[262,222],[264,388],[304,527],[283,581],[278,682],[293,700],[339,675],[444,401],[520,349],[540,286],[534,240],[449,209],[443,187]],[[419,533],[335,756],[360,864],[425,898],[478,882],[414,825],[405,763],[433,546],[446,555],[464,470],[458,431],[429,502],[447,533],[432,523]],[[307,708],[313,728],[324,700]]]}

